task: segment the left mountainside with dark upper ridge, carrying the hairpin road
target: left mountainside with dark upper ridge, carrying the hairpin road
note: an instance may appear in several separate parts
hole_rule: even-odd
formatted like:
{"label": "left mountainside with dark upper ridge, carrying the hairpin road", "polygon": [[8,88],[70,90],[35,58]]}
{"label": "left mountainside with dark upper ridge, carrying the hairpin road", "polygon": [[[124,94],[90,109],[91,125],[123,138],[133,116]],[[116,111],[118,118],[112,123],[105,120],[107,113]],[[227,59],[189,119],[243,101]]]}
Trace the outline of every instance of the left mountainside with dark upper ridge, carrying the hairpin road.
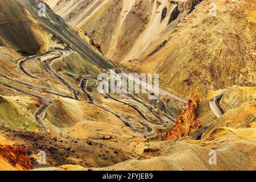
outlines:
{"label": "left mountainside with dark upper ridge, carrying the hairpin road", "polygon": [[47,166],[107,167],[136,157],[133,142],[171,129],[140,96],[100,94],[97,76],[115,66],[49,7],[40,17],[40,2],[0,2],[1,144],[23,146],[34,168],[40,151]]}

